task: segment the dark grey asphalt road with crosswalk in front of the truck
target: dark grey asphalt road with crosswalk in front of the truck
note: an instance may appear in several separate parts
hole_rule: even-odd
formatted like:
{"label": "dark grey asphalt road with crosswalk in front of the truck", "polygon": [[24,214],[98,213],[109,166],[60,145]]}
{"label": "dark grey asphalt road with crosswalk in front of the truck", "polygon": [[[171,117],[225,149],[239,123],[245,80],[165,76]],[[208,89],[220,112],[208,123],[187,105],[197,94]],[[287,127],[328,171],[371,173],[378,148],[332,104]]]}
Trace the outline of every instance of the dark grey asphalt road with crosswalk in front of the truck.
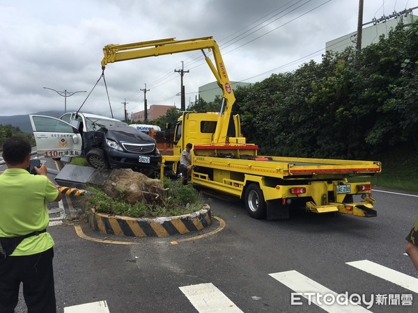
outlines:
{"label": "dark grey asphalt road with crosswalk in front of the truck", "polygon": [[[372,304],[371,312],[418,312],[418,274],[404,255],[418,193],[377,187],[373,198],[376,218],[297,211],[288,220],[254,220],[241,202],[214,198],[222,230],[214,219],[203,232],[168,238],[103,235],[67,220],[49,227],[59,312],[323,312],[314,299],[325,295],[342,303],[327,312]],[[75,199],[64,204],[67,218],[75,216]],[[312,301],[293,294],[292,305],[296,291]],[[21,299],[17,312],[25,311]]]}

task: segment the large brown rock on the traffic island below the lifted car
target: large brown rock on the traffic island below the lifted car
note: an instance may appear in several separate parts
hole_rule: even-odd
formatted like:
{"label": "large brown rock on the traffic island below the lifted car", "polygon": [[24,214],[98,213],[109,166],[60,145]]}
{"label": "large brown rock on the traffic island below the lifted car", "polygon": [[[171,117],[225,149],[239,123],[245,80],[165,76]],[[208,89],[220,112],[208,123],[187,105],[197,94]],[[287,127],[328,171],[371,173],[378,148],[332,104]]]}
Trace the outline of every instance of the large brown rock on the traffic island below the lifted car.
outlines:
{"label": "large brown rock on the traffic island below the lifted car", "polygon": [[129,204],[160,203],[165,191],[160,179],[151,179],[130,168],[112,170],[103,190],[112,198],[123,199]]}

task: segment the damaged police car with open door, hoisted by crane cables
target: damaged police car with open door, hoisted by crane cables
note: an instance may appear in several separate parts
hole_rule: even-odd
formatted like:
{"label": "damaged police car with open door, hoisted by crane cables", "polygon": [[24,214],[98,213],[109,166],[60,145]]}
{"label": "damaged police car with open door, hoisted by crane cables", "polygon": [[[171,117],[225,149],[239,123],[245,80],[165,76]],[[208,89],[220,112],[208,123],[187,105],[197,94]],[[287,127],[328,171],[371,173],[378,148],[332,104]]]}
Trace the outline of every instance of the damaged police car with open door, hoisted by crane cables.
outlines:
{"label": "damaged police car with open door, hoisted by crane cables", "polygon": [[93,168],[132,168],[147,175],[160,167],[155,139],[120,120],[79,112],[29,118],[39,157],[86,157]]}

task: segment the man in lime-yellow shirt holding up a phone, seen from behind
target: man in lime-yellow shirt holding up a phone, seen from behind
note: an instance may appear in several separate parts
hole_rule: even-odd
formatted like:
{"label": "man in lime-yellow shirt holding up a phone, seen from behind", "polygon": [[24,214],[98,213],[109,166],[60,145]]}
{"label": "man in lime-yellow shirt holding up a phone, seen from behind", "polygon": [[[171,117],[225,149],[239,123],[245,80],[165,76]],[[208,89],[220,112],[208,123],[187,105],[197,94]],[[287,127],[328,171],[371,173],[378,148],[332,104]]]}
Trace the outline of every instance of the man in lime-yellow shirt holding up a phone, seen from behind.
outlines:
{"label": "man in lime-yellow shirt holding up a phone, seen from behind", "polygon": [[54,241],[47,202],[61,200],[61,193],[47,178],[47,168],[31,175],[31,145],[21,137],[3,145],[8,167],[0,175],[0,312],[14,312],[20,283],[28,312],[56,312]]}

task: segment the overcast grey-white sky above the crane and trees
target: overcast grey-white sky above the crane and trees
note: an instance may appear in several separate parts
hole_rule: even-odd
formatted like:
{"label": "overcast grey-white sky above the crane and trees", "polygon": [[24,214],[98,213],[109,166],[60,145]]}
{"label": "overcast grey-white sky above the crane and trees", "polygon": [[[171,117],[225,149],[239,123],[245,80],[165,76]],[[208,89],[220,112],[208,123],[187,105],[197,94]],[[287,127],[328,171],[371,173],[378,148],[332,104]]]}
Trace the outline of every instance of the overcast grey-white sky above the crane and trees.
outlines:
{"label": "overcast grey-white sky above the crane and trees", "polygon": [[[0,115],[77,111],[102,73],[102,48],[162,38],[213,36],[231,81],[254,83],[314,59],[325,42],[357,30],[357,0],[0,0]],[[364,0],[363,22],[418,0]],[[415,13],[415,12],[414,12]],[[417,15],[417,13],[415,13]],[[151,104],[180,107],[184,62],[186,106],[215,81],[200,51],[109,63],[111,110],[123,118]],[[81,111],[111,115],[101,80]]]}

